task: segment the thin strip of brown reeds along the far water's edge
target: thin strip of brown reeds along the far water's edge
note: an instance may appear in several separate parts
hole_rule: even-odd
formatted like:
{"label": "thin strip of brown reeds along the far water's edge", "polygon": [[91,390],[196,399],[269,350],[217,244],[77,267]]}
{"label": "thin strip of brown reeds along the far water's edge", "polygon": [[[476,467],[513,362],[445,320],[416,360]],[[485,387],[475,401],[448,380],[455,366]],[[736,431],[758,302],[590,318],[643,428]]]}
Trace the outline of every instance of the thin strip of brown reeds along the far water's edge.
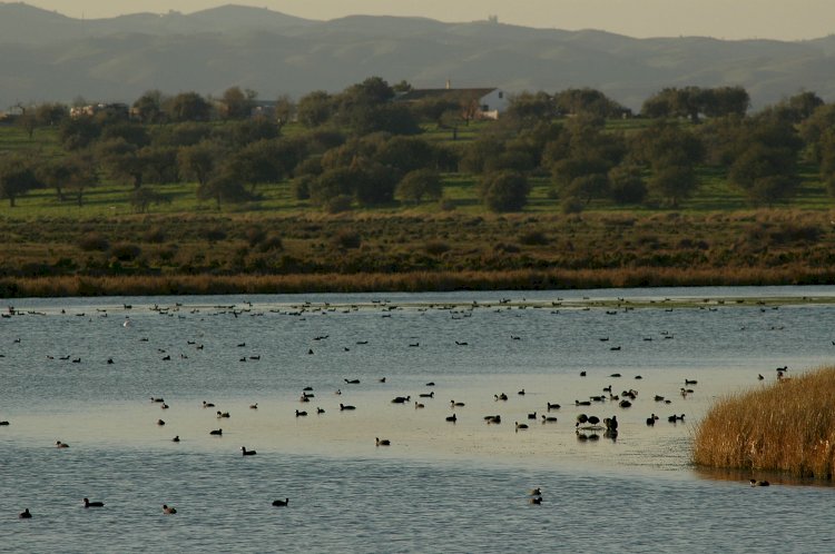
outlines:
{"label": "thin strip of brown reeds along the far water's edge", "polygon": [[559,290],[833,283],[832,270],[755,268],[518,269],[289,275],[119,275],[0,278],[0,298],[451,290]]}

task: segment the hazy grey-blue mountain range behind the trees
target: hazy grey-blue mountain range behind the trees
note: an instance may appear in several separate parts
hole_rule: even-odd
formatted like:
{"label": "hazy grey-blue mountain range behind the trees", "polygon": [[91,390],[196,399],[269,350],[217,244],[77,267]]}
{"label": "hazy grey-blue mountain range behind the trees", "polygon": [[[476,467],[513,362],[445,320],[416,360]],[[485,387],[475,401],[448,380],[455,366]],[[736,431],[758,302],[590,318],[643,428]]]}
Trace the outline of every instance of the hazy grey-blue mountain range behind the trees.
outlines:
{"label": "hazy grey-blue mountain range behind the trees", "polygon": [[488,21],[314,21],[239,6],[80,20],[0,3],[0,110],[17,102],[132,102],[145,90],[262,99],[340,91],[366,77],[415,87],[556,92],[591,87],[639,109],[665,87],[743,86],[755,108],[800,90],[835,99],[835,36],[802,42],[632,39]]}

